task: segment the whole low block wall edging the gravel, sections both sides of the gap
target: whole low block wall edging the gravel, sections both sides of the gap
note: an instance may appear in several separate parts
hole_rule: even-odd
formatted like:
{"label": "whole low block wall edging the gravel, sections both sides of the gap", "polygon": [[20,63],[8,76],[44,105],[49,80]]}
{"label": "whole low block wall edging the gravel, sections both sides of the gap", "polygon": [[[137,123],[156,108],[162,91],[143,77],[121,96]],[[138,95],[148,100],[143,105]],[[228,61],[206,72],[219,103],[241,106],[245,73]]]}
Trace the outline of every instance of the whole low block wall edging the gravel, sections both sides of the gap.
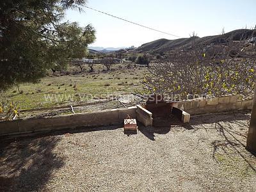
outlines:
{"label": "whole low block wall edging the gravel, sections both sides of the gap", "polygon": [[[182,109],[190,115],[252,109],[252,105],[252,98],[240,100],[238,95],[225,95],[209,99],[200,98],[172,103],[172,106]],[[122,125],[127,115],[130,115],[131,118],[137,118],[138,122],[145,126],[152,125],[152,113],[138,105],[130,108],[96,111],[93,113],[45,116],[42,118],[0,122],[0,136],[75,129],[76,127]]]}

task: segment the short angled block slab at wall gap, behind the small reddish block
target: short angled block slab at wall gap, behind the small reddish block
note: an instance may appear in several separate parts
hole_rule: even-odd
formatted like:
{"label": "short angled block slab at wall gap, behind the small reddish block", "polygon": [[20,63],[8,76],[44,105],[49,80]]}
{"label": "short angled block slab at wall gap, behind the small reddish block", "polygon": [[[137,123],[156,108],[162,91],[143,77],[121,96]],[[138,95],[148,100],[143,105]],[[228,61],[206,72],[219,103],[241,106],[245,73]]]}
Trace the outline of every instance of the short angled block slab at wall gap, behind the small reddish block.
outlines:
{"label": "short angled block slab at wall gap, behind the small reddish block", "polygon": [[141,122],[145,127],[153,125],[152,113],[147,109],[137,105],[136,118],[138,122]]}

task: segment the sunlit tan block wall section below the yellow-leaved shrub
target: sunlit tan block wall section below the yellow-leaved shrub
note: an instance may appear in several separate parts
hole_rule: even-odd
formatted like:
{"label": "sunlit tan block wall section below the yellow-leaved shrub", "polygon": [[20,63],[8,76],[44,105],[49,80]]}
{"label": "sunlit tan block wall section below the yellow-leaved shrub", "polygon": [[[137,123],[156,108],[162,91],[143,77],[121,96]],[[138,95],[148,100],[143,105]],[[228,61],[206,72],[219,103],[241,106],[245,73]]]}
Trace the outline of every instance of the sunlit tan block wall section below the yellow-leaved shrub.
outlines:
{"label": "sunlit tan block wall section below the yellow-leaved shrub", "polygon": [[218,113],[252,109],[253,98],[239,99],[239,95],[223,95],[223,97],[191,99],[178,102],[175,106],[190,115]]}

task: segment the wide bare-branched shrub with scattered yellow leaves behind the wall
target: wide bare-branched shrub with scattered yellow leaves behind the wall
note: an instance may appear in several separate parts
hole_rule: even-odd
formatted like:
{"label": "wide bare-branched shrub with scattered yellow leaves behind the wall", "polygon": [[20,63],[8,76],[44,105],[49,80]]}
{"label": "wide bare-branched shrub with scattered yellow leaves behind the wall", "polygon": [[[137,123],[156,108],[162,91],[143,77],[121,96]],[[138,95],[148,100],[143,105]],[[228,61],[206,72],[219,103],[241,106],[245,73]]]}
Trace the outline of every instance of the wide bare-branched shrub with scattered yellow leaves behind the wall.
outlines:
{"label": "wide bare-branched shrub with scattered yellow leaves behind the wall", "polygon": [[250,36],[232,37],[218,45],[193,44],[179,49],[165,61],[154,61],[143,81],[145,93],[225,95],[252,93],[255,84],[256,46]]}

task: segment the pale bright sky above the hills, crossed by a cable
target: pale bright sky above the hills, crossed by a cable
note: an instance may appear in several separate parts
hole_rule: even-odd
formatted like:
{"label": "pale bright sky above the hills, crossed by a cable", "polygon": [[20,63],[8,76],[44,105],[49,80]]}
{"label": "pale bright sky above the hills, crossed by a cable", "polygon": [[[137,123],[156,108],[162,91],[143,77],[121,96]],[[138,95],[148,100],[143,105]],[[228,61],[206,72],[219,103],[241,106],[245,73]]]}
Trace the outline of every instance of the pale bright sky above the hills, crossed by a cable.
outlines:
{"label": "pale bright sky above the hills, crossed by a cable", "polygon": [[[88,0],[88,6],[145,26],[188,37],[218,35],[256,24],[256,0]],[[85,13],[68,10],[67,19],[81,26],[92,24],[97,40],[90,46],[128,47],[176,37],[150,31],[122,20],[84,8]]]}

